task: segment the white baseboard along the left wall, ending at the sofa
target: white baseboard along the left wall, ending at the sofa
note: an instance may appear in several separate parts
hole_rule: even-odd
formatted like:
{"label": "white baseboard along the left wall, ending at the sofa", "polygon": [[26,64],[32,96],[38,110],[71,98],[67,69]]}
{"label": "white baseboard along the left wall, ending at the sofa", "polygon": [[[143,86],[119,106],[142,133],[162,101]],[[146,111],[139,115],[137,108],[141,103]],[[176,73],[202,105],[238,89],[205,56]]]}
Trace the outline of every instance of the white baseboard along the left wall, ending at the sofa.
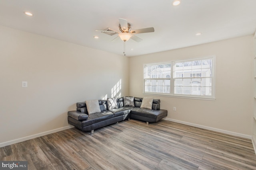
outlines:
{"label": "white baseboard along the left wall, ending at the sofa", "polygon": [[41,137],[41,136],[48,135],[48,134],[51,134],[51,133],[55,133],[55,132],[63,131],[63,130],[66,130],[66,129],[70,129],[72,127],[74,127],[74,126],[68,125],[68,126],[65,126],[65,127],[60,127],[58,129],[53,129],[53,130],[50,130],[50,131],[37,133],[35,135],[30,135],[30,136],[22,137],[22,138],[19,138],[19,139],[14,139],[12,141],[3,142],[3,143],[0,143],[0,147],[5,147],[5,146],[8,146],[8,145],[12,145],[14,143],[27,141],[29,139],[34,139],[36,137]]}

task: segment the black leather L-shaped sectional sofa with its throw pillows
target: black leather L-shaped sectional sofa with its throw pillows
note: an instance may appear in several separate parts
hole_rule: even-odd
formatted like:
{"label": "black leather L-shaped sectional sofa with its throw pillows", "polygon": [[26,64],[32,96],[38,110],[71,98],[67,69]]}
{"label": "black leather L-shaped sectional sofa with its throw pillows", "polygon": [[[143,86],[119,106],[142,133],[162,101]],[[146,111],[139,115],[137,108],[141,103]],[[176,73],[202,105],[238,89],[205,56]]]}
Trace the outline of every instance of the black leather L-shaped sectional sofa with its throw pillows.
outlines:
{"label": "black leather L-shaped sectional sofa with its throw pillows", "polygon": [[90,113],[92,110],[90,102],[76,103],[76,111],[68,111],[68,123],[91,133],[94,133],[95,129],[130,118],[146,121],[147,124],[156,122],[166,117],[168,113],[167,110],[160,109],[160,100],[153,98],[125,96],[96,100],[94,104],[96,107],[99,105],[99,108],[96,109],[97,111],[92,111],[93,113]]}

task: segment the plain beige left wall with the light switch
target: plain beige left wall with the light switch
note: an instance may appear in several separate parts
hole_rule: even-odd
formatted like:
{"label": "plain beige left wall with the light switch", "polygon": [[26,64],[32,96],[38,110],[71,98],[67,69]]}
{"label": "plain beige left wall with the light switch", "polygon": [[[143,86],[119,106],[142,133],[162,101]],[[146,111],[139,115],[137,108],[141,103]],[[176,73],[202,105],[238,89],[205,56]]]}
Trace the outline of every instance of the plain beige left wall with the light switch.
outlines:
{"label": "plain beige left wall with the light switch", "polygon": [[111,97],[120,79],[128,95],[128,63],[121,55],[0,26],[0,144],[68,126],[76,102]]}

